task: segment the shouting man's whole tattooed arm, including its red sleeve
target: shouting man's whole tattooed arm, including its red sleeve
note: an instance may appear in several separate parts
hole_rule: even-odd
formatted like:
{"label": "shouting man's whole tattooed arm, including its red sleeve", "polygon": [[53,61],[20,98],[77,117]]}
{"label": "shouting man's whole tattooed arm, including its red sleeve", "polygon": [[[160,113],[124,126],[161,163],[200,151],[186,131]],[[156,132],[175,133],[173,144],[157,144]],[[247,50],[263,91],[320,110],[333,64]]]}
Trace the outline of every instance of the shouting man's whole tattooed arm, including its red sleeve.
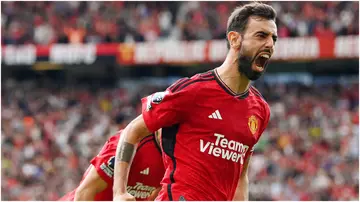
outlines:
{"label": "shouting man's whole tattooed arm, including its red sleeve", "polygon": [[[190,108],[189,103],[194,103],[196,91],[200,89],[191,90],[189,86],[194,83],[191,81],[188,78],[180,79],[166,91],[142,99],[142,115],[124,129],[118,143],[114,170],[114,200],[135,200],[126,190],[135,147],[141,139],[152,132],[185,120]],[[184,87],[181,88],[181,85]],[[185,89],[185,86],[188,87]]]}

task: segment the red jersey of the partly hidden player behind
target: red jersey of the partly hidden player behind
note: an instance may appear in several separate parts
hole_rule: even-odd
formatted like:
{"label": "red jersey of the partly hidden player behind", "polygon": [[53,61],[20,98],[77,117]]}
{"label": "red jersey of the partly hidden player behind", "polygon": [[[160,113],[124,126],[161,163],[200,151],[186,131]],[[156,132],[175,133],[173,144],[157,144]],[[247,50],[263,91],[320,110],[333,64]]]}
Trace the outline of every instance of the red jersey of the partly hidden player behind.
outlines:
{"label": "red jersey of the partly hidden player behind", "polygon": [[[100,177],[107,182],[107,188],[95,196],[95,201],[113,200],[114,164],[117,143],[121,131],[112,136],[101,149],[100,153],[91,160]],[[83,179],[86,177],[85,172]],[[147,200],[152,191],[160,187],[160,181],[165,173],[161,158],[161,149],[158,147],[155,136],[149,135],[142,139],[137,147],[134,160],[131,164],[127,191],[135,196],[137,201]],[[73,201],[75,191],[70,192],[59,200]]]}

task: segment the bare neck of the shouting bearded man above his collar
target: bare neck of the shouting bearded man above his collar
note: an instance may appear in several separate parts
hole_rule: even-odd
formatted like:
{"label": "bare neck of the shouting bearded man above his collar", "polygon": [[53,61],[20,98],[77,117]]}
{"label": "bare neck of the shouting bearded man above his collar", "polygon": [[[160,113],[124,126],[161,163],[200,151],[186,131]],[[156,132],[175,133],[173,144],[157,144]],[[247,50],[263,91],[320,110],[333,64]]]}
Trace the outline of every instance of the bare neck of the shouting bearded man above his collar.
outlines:
{"label": "bare neck of the shouting bearded man above his collar", "polygon": [[241,74],[237,66],[235,51],[230,50],[224,63],[217,68],[221,80],[236,94],[245,92],[250,87],[250,80]]}

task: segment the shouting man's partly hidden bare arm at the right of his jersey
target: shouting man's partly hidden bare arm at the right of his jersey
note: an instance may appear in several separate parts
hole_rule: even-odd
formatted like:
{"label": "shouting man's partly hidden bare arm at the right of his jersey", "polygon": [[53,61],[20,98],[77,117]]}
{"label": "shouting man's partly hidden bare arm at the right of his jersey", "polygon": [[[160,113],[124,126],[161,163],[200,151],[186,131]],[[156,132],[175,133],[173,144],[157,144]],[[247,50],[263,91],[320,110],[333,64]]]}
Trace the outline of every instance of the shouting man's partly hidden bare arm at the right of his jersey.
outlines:
{"label": "shouting man's partly hidden bare arm at the right of his jersey", "polygon": [[248,167],[250,164],[250,158],[251,158],[251,155],[245,161],[243,172],[240,175],[233,201],[248,201],[249,200]]}

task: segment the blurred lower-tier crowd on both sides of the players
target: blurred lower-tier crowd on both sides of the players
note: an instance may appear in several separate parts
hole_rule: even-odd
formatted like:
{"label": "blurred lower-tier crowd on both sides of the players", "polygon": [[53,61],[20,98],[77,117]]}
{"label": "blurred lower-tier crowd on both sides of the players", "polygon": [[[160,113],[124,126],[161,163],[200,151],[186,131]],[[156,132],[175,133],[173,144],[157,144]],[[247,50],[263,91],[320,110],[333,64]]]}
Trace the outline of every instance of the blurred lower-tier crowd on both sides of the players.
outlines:
{"label": "blurred lower-tier crowd on both sides of the players", "polygon": [[[77,187],[106,139],[141,112],[132,89],[3,80],[2,200],[57,200]],[[358,83],[259,85],[269,127],[252,158],[251,200],[357,200]]]}

